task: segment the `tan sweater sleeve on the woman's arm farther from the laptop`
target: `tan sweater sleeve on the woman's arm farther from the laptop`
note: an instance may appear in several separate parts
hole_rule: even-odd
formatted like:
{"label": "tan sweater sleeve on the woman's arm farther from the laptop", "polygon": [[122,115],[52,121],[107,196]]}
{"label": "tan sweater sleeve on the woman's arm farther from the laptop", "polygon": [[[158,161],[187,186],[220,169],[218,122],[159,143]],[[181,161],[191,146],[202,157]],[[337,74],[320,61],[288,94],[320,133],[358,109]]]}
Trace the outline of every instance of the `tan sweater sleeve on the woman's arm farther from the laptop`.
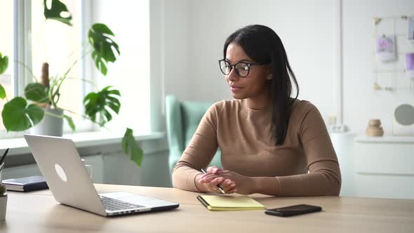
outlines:
{"label": "tan sweater sleeve on the woman's arm farther from the laptop", "polygon": [[340,194],[338,158],[319,110],[312,104],[305,111],[298,133],[309,173],[277,177],[279,196],[322,196]]}

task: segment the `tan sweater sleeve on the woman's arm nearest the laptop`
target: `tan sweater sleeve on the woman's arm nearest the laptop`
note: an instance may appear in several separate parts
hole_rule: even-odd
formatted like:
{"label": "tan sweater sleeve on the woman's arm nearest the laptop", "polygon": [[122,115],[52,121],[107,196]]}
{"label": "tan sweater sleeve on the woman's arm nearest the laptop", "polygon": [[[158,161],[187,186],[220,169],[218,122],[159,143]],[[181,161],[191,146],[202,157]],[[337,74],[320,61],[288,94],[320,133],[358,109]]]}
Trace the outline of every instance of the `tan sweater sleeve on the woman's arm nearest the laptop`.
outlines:
{"label": "tan sweater sleeve on the woman's arm nearest the laptop", "polygon": [[192,140],[185,148],[180,160],[173,168],[173,187],[199,192],[195,178],[201,168],[206,168],[218,149],[217,122],[218,104],[212,105],[204,114]]}

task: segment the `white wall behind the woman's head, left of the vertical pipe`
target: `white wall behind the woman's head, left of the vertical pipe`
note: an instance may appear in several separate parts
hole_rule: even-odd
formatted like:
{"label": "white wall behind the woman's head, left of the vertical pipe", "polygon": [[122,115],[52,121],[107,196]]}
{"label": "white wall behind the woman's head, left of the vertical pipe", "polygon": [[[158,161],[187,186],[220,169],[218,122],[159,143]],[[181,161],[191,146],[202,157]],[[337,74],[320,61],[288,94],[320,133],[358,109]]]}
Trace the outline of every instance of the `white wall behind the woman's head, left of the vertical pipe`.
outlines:
{"label": "white wall behind the woman's head, left of the vertical pipe", "polygon": [[[164,4],[163,22],[180,26],[170,30],[164,25],[163,64],[170,66],[163,72],[166,94],[178,95],[182,100],[231,99],[218,69],[222,46],[236,29],[262,24],[272,27],[281,37],[300,85],[300,98],[314,102],[323,116],[335,114],[334,1],[180,0],[158,4]],[[155,6],[152,13],[154,9]],[[168,47],[175,48],[173,55]],[[321,91],[321,86],[328,88]]]}

